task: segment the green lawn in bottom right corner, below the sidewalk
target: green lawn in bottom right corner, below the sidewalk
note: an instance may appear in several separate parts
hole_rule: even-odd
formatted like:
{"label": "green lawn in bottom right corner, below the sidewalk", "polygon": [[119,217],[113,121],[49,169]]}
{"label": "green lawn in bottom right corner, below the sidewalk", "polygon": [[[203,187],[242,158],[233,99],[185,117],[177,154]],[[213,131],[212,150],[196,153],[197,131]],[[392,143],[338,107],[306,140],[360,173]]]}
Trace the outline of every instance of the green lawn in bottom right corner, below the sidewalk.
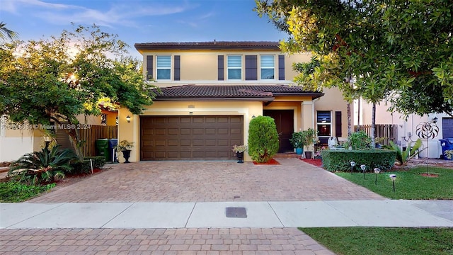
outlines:
{"label": "green lawn in bottom right corner, below the sidewalk", "polygon": [[339,255],[453,254],[453,228],[314,227],[299,229]]}

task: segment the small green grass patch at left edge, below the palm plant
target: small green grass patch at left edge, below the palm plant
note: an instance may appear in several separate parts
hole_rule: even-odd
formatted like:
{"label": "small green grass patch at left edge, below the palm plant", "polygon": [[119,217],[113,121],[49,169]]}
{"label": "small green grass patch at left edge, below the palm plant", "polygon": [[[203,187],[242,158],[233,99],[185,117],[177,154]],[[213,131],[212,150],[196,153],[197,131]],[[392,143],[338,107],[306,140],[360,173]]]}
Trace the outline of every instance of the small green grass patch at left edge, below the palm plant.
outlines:
{"label": "small green grass patch at left edge, below the palm plant", "polygon": [[38,196],[55,187],[55,183],[45,186],[29,186],[16,181],[0,183],[0,203],[16,203]]}

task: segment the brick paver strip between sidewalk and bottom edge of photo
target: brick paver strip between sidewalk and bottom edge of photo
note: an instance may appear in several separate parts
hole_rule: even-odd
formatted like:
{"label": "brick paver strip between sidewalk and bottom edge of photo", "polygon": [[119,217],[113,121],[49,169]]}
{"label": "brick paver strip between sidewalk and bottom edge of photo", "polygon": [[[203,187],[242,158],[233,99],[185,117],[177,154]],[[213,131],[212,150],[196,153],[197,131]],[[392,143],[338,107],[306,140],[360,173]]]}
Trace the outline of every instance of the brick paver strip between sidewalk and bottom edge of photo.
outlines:
{"label": "brick paver strip between sidewalk and bottom edge of photo", "polygon": [[0,254],[333,254],[291,228],[0,229]]}

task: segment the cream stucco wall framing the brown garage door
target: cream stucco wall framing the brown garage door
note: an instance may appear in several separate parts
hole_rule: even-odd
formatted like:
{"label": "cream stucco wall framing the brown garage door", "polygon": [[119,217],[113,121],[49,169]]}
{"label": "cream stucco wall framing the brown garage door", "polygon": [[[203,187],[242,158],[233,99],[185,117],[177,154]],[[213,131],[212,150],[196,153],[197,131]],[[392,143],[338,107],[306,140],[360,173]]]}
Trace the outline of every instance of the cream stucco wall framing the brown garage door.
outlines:
{"label": "cream stucco wall framing the brown garage door", "polygon": [[[142,115],[242,115],[243,141],[246,144],[248,140],[248,123],[250,123],[253,115],[258,116],[262,113],[263,104],[259,101],[156,101]],[[132,117],[130,123],[126,121],[127,115]],[[132,115],[127,109],[120,109],[118,118],[120,121],[118,141],[128,140],[129,142],[134,142],[130,162],[138,162],[140,158],[139,115]],[[245,155],[245,160],[251,160],[248,154]],[[120,162],[124,162],[122,156],[120,156]]]}

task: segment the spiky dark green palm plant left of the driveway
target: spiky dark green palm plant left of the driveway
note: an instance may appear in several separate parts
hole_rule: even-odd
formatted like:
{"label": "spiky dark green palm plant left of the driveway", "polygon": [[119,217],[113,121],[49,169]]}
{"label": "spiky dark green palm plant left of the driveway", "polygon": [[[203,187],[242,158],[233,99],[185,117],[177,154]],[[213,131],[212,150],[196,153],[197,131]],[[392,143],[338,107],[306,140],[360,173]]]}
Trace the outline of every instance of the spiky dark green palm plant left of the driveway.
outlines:
{"label": "spiky dark green palm plant left of the driveway", "polygon": [[74,159],[76,155],[70,149],[59,149],[59,145],[50,150],[44,148],[40,152],[25,154],[13,162],[8,176],[32,184],[48,183],[64,178],[65,172],[71,171],[69,163]]}

